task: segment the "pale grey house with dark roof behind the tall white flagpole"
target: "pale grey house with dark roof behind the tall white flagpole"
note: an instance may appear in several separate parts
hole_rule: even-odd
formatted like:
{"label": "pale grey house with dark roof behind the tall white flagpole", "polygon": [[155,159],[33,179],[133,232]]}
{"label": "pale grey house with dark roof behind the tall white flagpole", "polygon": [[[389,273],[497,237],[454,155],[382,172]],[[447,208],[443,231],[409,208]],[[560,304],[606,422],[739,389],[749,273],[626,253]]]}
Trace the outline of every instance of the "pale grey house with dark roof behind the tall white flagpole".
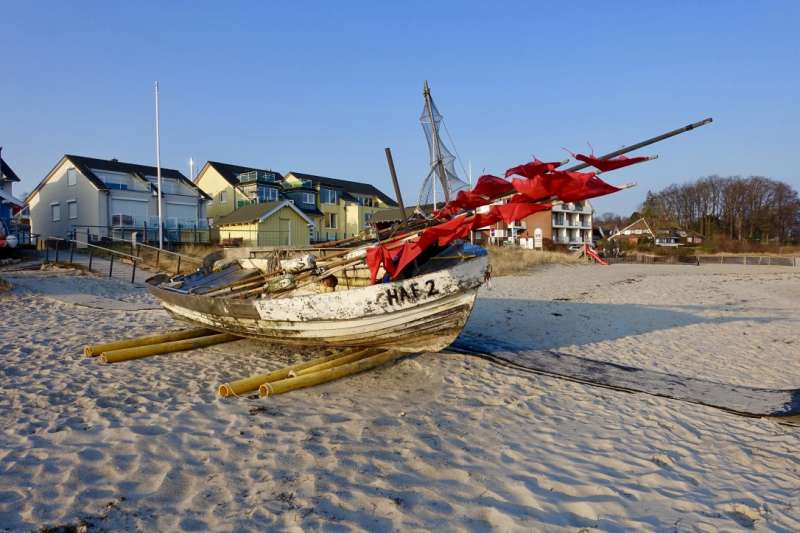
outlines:
{"label": "pale grey house with dark roof behind the tall white flagpole", "polygon": [[[31,192],[31,231],[42,237],[158,241],[155,167],[65,155]],[[179,171],[161,169],[161,210],[167,242],[206,242],[208,195]]]}

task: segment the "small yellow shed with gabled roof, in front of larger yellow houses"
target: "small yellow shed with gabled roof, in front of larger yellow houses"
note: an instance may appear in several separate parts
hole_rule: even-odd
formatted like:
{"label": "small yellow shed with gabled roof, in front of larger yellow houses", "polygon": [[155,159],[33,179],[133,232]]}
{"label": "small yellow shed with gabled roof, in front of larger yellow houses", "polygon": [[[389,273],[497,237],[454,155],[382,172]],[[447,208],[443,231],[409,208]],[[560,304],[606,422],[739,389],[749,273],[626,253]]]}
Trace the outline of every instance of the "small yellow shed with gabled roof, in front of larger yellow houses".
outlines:
{"label": "small yellow shed with gabled roof, in front of larger yellow houses", "polygon": [[221,241],[243,246],[307,246],[314,221],[289,200],[242,205],[215,223]]}

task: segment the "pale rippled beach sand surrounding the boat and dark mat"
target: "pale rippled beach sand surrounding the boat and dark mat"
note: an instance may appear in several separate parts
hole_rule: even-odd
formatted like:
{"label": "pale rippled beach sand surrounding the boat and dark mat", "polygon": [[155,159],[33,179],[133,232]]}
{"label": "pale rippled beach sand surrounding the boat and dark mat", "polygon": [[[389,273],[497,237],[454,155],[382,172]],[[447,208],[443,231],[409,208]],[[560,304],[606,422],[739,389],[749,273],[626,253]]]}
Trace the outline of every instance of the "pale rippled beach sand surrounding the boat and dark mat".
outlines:
{"label": "pale rippled beach sand surrounding the boat and dark mat", "polygon": [[[318,353],[243,340],[101,365],[84,344],[179,324],[121,281],[3,277],[0,530],[800,530],[798,427],[452,354],[219,399]],[[491,280],[467,329],[794,388],[798,311],[797,269],[558,266]]]}

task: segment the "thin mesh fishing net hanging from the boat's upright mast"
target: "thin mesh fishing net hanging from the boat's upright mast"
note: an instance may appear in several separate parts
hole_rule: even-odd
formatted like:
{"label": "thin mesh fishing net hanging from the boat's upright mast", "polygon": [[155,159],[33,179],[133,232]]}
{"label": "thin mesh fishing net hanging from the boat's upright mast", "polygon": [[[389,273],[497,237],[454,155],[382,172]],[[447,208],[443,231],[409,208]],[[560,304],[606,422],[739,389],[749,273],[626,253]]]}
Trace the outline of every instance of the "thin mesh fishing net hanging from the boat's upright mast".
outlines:
{"label": "thin mesh fishing net hanging from the boat's upright mast", "polygon": [[433,98],[429,101],[430,110],[426,104],[419,121],[428,141],[431,168],[422,182],[417,205],[436,204],[437,207],[442,207],[448,199],[455,198],[458,191],[468,190],[469,185],[456,173],[456,157],[448,150],[440,136],[442,115],[436,109]]}

